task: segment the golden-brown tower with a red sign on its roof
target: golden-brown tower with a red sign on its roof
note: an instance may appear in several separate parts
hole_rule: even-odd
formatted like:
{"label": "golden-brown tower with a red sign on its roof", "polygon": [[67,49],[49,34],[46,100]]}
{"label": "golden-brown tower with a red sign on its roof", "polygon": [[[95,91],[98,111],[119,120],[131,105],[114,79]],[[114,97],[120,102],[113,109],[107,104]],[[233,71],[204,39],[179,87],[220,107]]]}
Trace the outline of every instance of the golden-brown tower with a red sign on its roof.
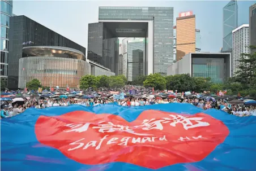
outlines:
{"label": "golden-brown tower with a red sign on its roof", "polygon": [[195,52],[195,15],[192,11],[181,12],[176,18],[177,55],[176,60]]}

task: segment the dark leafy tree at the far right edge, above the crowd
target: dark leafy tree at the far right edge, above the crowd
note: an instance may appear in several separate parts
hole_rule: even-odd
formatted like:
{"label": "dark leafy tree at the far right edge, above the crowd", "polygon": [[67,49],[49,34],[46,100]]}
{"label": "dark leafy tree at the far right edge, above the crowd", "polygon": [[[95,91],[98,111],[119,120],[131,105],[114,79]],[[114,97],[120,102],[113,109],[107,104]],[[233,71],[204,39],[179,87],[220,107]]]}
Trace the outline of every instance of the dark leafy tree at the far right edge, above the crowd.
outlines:
{"label": "dark leafy tree at the far right edge, above the crowd", "polygon": [[[256,49],[256,46],[249,47],[251,51]],[[251,54],[242,53],[238,62],[240,62],[240,65],[236,73],[237,76],[234,79],[243,85],[249,85],[251,91],[256,80],[256,52]]]}

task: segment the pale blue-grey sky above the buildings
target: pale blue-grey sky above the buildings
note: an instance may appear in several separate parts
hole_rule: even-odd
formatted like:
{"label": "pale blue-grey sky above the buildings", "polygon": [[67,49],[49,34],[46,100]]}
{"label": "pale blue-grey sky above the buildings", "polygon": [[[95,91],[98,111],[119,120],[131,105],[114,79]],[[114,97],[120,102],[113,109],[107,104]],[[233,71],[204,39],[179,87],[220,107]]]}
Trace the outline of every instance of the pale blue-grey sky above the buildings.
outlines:
{"label": "pale blue-grey sky above the buildings", "polygon": [[[222,8],[228,1],[14,1],[13,13],[25,15],[87,48],[88,23],[98,21],[99,6],[174,7],[193,11],[201,32],[202,51],[222,47]],[[238,25],[249,24],[249,6],[256,1],[238,1]],[[174,20],[176,25],[176,20]]]}

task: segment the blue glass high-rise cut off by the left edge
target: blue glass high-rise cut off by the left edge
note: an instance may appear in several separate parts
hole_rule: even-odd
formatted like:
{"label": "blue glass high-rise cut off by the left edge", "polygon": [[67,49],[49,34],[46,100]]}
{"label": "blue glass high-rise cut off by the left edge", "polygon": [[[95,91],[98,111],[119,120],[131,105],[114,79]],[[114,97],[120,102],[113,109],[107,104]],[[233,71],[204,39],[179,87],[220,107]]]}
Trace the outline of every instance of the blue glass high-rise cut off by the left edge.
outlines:
{"label": "blue glass high-rise cut off by the left edge", "polygon": [[1,80],[7,82],[8,46],[12,1],[1,0]]}

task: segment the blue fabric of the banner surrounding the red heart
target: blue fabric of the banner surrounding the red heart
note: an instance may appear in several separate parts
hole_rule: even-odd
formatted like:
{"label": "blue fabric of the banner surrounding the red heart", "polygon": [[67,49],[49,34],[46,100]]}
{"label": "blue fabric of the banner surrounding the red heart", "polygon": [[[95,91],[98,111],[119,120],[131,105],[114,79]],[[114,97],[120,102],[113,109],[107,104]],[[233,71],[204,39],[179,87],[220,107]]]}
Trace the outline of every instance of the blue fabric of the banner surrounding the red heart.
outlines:
{"label": "blue fabric of the banner surrounding the red heart", "polygon": [[[122,107],[115,104],[104,104],[96,107],[70,106],[52,107],[46,109],[29,108],[18,116],[2,119],[1,121],[1,170],[36,170],[36,171],[119,171],[137,170],[149,171],[127,163],[108,163],[101,165],[84,165],[62,155],[58,150],[40,146],[35,135],[35,123],[40,115],[56,116],[71,111],[89,111],[93,113],[112,113],[127,121],[133,121],[147,109],[177,113],[204,112],[224,122],[230,133],[224,143],[215,148],[210,155],[197,163],[181,163],[157,169],[157,171],[177,170],[211,170],[234,171],[256,169],[256,117],[237,117],[216,109],[203,111],[191,104],[170,103],[143,107]],[[40,156],[40,161],[29,160],[28,156]]]}

